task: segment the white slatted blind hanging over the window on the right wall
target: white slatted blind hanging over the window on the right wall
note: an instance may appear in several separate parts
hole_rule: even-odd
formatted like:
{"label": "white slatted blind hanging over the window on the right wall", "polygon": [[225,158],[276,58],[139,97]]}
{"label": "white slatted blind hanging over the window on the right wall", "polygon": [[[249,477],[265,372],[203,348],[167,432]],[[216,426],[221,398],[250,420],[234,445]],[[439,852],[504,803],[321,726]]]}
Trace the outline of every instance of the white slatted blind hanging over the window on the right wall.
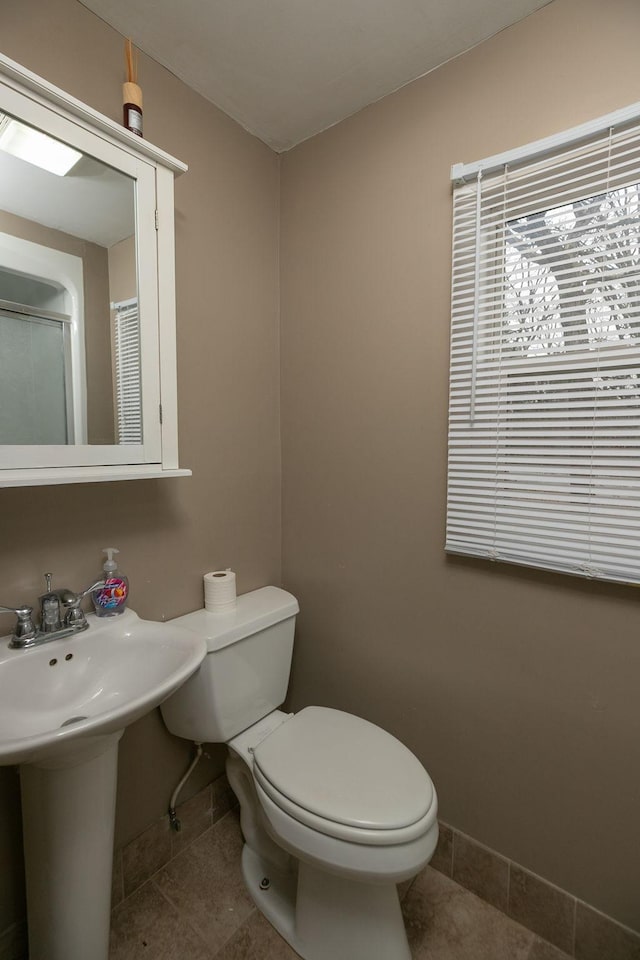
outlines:
{"label": "white slatted blind hanging over the window on the right wall", "polygon": [[446,549],[638,583],[639,121],[479,166],[454,190]]}

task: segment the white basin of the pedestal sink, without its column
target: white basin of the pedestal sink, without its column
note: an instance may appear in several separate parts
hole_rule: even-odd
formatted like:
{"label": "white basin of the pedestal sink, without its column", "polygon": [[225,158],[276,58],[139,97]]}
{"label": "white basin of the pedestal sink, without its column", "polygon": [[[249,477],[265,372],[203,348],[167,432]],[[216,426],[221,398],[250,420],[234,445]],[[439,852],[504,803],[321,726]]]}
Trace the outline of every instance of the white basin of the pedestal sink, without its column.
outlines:
{"label": "white basin of the pedestal sink, without its column", "polygon": [[0,765],[72,755],[157,707],[206,644],[170,623],[89,614],[88,630],[31,650],[0,640]]}

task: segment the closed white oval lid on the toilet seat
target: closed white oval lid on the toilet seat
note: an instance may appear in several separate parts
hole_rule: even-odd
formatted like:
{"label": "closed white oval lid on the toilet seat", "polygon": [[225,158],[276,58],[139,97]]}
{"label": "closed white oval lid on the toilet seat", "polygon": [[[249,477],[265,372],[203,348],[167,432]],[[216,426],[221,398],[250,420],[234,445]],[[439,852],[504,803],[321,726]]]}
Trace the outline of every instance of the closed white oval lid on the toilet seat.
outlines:
{"label": "closed white oval lid on the toilet seat", "polygon": [[417,757],[390,733],[340,710],[305,707],[253,757],[280,794],[335,823],[401,829],[433,803],[433,784]]}

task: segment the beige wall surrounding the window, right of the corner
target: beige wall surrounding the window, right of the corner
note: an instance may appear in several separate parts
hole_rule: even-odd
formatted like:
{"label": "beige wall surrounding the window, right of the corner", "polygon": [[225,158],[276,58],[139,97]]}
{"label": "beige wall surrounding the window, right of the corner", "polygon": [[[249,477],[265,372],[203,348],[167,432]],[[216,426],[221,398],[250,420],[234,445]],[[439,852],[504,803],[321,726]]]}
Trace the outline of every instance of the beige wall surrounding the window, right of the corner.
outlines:
{"label": "beige wall surrounding the window, right of the corner", "polygon": [[443,543],[450,164],[638,100],[639,36],[636,0],[556,0],[281,178],[292,706],[379,721],[445,820],[636,929],[638,593]]}

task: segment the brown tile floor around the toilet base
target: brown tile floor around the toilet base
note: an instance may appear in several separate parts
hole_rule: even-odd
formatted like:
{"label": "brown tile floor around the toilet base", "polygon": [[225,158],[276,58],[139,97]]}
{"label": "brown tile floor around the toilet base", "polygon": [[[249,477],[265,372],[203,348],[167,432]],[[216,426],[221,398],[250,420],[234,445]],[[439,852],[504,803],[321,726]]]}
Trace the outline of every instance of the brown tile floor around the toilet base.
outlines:
{"label": "brown tile floor around the toilet base", "polygon": [[[296,960],[244,890],[241,847],[234,810],[116,907],[110,960]],[[430,867],[402,905],[413,960],[568,960]]]}

